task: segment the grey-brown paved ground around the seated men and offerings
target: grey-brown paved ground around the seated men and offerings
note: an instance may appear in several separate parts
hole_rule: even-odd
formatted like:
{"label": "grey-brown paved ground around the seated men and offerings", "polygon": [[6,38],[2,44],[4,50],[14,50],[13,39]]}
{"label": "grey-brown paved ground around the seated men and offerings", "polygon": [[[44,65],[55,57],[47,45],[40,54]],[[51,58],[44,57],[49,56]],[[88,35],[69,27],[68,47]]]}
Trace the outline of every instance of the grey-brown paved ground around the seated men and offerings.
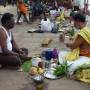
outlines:
{"label": "grey-brown paved ground around the seated men and offerings", "polygon": [[[1,8],[1,7],[0,7]],[[9,10],[12,10],[9,6]],[[7,10],[6,10],[7,11]],[[13,10],[12,10],[13,11]],[[64,49],[65,45],[59,42],[59,33],[27,33],[31,28],[37,28],[39,20],[33,22],[32,25],[23,23],[22,25],[16,25],[12,30],[20,47],[26,47],[29,49],[29,56],[35,56],[40,54],[42,50],[46,49],[41,47],[43,38],[50,37],[53,39],[52,43],[47,48],[57,47],[58,49]],[[16,70],[1,69],[0,70],[0,90],[34,90],[32,81],[27,78],[27,73],[17,72]],[[90,85],[79,81],[61,78],[58,80],[47,80],[47,90],[90,90]]]}

